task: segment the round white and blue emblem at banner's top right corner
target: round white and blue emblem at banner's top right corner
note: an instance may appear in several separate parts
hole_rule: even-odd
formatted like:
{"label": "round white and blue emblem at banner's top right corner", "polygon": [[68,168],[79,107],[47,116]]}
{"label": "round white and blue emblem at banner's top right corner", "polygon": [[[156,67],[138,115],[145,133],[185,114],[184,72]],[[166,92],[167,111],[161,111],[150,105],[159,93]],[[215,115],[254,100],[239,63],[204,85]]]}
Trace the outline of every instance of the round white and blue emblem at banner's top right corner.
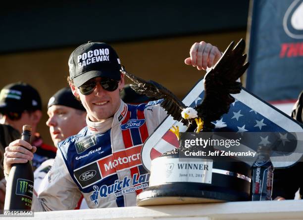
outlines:
{"label": "round white and blue emblem at banner's top right corner", "polygon": [[303,39],[303,0],[294,0],[283,18],[285,33],[294,39]]}

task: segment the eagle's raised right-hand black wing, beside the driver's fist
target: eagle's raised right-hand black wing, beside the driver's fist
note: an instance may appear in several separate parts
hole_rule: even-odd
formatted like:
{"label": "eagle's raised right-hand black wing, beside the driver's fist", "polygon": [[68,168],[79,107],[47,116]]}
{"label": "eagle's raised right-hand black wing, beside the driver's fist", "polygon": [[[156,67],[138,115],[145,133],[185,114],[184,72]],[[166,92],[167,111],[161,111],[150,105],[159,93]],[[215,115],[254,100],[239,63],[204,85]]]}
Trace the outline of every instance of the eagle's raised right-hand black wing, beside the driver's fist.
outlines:
{"label": "eagle's raised right-hand black wing, beside the driver's fist", "polygon": [[196,106],[198,116],[204,123],[219,120],[228,113],[230,104],[235,98],[230,94],[241,91],[242,84],[236,82],[249,66],[246,62],[245,41],[241,39],[234,47],[234,42],[229,44],[222,57],[204,78],[204,98],[200,105]]}

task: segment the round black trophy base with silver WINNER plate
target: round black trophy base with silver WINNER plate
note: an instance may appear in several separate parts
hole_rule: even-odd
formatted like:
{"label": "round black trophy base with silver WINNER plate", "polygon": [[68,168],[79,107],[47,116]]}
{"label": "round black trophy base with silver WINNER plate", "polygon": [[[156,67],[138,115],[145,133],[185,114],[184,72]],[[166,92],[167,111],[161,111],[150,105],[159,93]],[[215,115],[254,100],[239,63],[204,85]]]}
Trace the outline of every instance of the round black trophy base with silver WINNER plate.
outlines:
{"label": "round black trophy base with silver WINNER plate", "polygon": [[138,206],[249,200],[248,164],[178,156],[152,160],[150,186],[137,195]]}

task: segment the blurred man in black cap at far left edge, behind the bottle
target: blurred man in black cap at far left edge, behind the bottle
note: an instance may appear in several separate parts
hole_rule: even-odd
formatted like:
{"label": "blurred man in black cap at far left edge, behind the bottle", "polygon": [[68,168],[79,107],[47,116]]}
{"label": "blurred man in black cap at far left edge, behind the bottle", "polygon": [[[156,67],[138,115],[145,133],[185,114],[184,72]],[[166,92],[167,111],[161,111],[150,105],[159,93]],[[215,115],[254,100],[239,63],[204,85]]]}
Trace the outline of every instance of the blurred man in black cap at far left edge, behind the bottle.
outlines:
{"label": "blurred man in black cap at far left edge, behind the bottle", "polygon": [[34,169],[56,155],[56,148],[43,143],[37,132],[37,125],[42,117],[41,110],[38,91],[26,83],[9,84],[0,91],[0,124],[8,124],[20,133],[23,125],[32,126],[31,144],[37,147],[32,160]]}

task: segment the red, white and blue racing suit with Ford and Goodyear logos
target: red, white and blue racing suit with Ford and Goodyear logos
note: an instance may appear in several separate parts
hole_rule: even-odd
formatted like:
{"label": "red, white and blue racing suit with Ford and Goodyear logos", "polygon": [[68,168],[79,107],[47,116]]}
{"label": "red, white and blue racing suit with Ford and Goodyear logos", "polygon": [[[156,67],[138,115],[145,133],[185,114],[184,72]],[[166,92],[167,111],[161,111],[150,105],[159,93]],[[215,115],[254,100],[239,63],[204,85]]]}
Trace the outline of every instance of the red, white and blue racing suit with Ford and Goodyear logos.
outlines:
{"label": "red, white and blue racing suit with Ford and Goodyear logos", "polygon": [[135,206],[150,177],[142,166],[142,145],[167,116],[160,102],[121,100],[112,118],[93,123],[87,117],[87,127],[58,144],[48,182],[34,195],[32,209],[72,210],[81,195],[90,208]]}

